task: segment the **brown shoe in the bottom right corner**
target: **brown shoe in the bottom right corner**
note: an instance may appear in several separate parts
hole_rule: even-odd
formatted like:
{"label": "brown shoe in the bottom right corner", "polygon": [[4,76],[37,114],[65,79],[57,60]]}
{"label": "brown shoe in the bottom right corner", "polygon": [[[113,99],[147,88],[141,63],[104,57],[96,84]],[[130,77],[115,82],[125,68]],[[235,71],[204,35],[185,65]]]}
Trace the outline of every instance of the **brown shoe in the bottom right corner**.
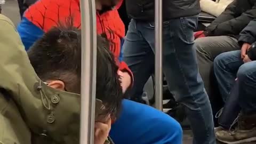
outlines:
{"label": "brown shoe in the bottom right corner", "polygon": [[234,131],[220,130],[215,135],[219,141],[228,144],[256,141],[256,115],[239,116]]}

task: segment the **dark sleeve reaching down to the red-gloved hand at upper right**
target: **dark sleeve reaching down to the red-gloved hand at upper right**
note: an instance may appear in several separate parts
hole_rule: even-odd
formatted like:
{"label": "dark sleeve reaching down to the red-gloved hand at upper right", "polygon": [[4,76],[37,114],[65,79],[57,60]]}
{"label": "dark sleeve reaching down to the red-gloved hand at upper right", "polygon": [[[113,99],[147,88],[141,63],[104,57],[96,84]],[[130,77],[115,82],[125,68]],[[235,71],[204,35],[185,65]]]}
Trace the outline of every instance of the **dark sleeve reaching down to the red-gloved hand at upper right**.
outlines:
{"label": "dark sleeve reaching down to the red-gloved hand at upper right", "polygon": [[225,11],[223,11],[205,30],[206,36],[211,36],[214,33],[215,28],[222,22],[234,19],[236,15],[236,0],[230,3]]}

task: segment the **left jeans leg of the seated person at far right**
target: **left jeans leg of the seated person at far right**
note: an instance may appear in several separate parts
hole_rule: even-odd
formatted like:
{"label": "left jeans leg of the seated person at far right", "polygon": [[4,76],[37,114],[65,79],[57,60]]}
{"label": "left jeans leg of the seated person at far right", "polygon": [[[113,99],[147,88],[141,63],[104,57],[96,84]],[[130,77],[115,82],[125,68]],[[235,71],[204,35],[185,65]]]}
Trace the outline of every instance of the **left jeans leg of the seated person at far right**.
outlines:
{"label": "left jeans leg of the seated person at far right", "polygon": [[221,53],[215,58],[214,74],[223,101],[228,98],[231,87],[235,83],[237,70],[241,65],[243,65],[243,60],[241,59],[240,50]]}

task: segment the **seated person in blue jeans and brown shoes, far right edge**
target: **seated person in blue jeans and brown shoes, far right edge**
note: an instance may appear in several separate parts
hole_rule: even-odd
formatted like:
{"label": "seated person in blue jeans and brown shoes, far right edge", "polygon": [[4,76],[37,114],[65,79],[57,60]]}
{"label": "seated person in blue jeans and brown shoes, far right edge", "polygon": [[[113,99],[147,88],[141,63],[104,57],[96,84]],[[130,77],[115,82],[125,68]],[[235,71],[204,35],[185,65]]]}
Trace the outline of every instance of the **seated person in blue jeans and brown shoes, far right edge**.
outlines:
{"label": "seated person in blue jeans and brown shoes, far right edge", "polygon": [[[253,20],[241,32],[238,43],[241,50],[225,52],[214,60],[214,73],[217,78],[223,100],[232,99],[230,90],[238,84],[238,127],[235,131],[219,129],[217,139],[225,143],[243,143],[256,140],[256,20]],[[236,80],[237,79],[237,80]]]}

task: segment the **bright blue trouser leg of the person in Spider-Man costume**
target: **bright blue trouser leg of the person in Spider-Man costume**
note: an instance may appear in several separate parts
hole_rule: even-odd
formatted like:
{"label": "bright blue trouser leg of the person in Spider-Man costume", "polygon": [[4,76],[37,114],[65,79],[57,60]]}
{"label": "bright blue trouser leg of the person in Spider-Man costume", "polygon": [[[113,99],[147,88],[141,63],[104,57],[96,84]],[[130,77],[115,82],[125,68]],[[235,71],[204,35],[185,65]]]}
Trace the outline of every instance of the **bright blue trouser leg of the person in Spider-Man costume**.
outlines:
{"label": "bright blue trouser leg of the person in Spider-Man costume", "polygon": [[110,137],[115,144],[181,144],[182,129],[162,111],[123,100],[121,115],[111,125]]}

